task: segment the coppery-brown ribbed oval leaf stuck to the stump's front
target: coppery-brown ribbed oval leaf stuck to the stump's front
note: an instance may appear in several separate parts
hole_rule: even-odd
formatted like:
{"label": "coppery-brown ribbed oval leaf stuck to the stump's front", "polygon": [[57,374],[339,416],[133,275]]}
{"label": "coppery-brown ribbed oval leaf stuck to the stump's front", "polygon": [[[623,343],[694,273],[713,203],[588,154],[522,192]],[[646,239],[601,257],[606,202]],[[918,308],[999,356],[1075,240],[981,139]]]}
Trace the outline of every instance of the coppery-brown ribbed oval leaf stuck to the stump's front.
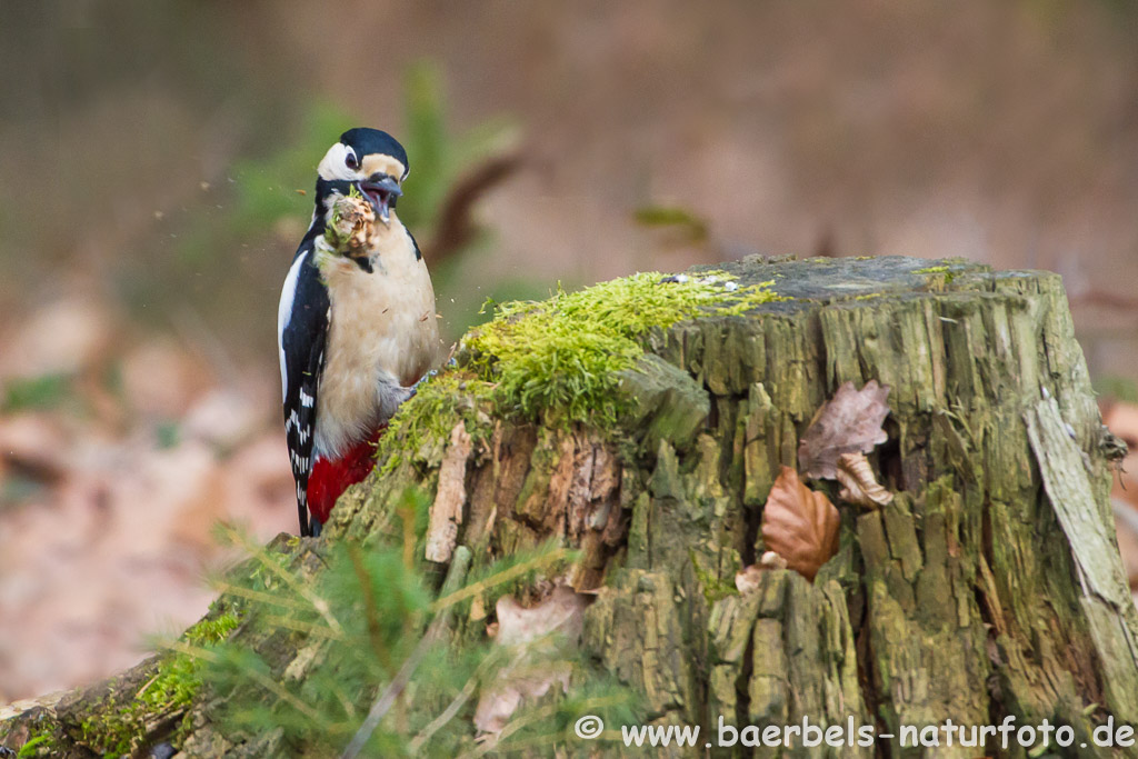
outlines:
{"label": "coppery-brown ribbed oval leaf stuck to the stump's front", "polygon": [[762,509],[762,542],[808,580],[838,553],[838,509],[783,467]]}

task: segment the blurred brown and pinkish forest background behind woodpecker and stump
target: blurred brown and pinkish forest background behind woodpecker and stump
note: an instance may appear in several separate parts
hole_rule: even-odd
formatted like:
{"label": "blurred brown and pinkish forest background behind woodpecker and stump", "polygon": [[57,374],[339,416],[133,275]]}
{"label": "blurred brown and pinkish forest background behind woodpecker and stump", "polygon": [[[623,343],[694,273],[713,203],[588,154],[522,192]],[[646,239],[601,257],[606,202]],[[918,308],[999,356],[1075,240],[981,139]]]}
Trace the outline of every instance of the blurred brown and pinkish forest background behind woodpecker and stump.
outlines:
{"label": "blurred brown and pinkish forest background behind woodpecker and stump", "polygon": [[355,125],[407,147],[452,339],[752,253],[1050,269],[1138,442],[1136,39],[1124,0],[0,0],[0,703],[197,619],[216,520],[295,530],[277,300]]}

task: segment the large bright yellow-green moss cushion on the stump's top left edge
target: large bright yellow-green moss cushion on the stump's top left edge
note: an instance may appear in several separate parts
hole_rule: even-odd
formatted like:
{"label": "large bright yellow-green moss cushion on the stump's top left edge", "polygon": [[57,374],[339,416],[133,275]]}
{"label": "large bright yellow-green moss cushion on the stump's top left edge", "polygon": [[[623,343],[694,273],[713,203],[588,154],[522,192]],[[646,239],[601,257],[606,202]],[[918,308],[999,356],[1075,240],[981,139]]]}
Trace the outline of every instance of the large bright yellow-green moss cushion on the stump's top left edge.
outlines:
{"label": "large bright yellow-green moss cushion on the stump's top left edge", "polygon": [[457,365],[423,382],[391,419],[377,446],[380,473],[409,459],[437,463],[460,420],[476,443],[490,435],[493,418],[613,432],[627,403],[619,372],[643,355],[641,340],[653,329],[778,299],[772,282],[739,287],[719,271],[665,278],[645,272],[544,302],[498,304],[494,319],[464,338]]}

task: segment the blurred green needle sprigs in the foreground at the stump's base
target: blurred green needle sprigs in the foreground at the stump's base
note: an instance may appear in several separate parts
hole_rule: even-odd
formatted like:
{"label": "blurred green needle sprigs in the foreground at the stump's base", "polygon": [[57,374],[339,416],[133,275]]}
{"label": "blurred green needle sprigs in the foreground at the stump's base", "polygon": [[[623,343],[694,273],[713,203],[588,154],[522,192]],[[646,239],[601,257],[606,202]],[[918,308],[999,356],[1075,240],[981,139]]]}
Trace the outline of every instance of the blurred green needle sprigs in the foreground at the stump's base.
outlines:
{"label": "blurred green needle sprigs in the foreground at the stump's base", "polygon": [[[438,578],[420,559],[428,502],[423,494],[405,494],[393,517],[402,529],[380,529],[379,539],[320,544],[315,576],[313,562],[305,559],[312,556],[306,553],[311,545],[297,546],[299,552],[288,559],[247,543],[261,571],[230,593],[244,599],[248,629],[256,632],[245,637],[255,643],[232,641],[206,663],[229,734],[282,734],[284,744],[278,750],[289,756],[339,753],[372,703],[404,671],[410,673],[406,686],[372,732],[364,756],[477,750],[477,693],[497,682],[500,667],[517,652],[493,645],[486,620],[471,620],[472,609],[493,609],[503,593],[560,574],[574,555],[547,545],[476,567],[469,575],[455,569],[469,562],[456,559],[436,592]],[[290,660],[277,657],[283,638],[303,641]],[[620,710],[628,718],[622,690],[596,676],[567,646],[549,643],[533,653],[534,666],[568,662],[572,695],[551,688],[547,698],[523,707],[500,750],[511,750],[514,742],[563,740],[569,720],[597,701],[603,701],[597,713]]]}

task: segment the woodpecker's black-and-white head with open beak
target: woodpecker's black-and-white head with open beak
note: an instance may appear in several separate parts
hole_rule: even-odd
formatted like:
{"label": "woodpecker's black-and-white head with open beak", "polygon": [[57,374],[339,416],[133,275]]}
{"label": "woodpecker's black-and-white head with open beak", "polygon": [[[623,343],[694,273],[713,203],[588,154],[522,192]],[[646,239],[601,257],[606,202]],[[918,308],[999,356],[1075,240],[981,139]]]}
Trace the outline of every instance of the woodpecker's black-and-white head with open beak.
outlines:
{"label": "woodpecker's black-and-white head with open beak", "polygon": [[327,212],[332,195],[348,195],[354,187],[368,198],[376,216],[385,224],[403,195],[399,185],[407,178],[407,152],[398,141],[377,129],[348,130],[328,149],[316,170],[316,206]]}

